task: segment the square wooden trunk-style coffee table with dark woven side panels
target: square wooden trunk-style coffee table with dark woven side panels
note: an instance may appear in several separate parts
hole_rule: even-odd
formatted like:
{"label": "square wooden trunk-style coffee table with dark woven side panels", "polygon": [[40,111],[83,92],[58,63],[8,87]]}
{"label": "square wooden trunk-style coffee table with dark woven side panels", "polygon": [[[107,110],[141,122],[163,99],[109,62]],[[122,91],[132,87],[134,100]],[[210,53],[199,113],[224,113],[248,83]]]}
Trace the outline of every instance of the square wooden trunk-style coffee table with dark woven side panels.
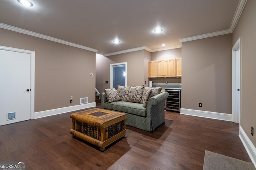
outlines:
{"label": "square wooden trunk-style coffee table with dark woven side panels", "polygon": [[106,109],[88,109],[70,115],[70,133],[100,147],[105,148],[126,134],[126,114]]}

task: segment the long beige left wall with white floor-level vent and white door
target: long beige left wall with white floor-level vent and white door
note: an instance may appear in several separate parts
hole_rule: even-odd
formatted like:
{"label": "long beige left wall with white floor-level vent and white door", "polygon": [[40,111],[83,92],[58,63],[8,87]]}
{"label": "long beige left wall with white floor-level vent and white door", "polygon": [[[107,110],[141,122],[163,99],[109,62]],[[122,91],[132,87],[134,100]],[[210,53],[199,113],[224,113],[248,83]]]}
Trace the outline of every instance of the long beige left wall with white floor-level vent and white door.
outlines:
{"label": "long beige left wall with white floor-level vent and white door", "polygon": [[95,102],[94,52],[6,29],[0,37],[2,46],[35,51],[35,112]]}

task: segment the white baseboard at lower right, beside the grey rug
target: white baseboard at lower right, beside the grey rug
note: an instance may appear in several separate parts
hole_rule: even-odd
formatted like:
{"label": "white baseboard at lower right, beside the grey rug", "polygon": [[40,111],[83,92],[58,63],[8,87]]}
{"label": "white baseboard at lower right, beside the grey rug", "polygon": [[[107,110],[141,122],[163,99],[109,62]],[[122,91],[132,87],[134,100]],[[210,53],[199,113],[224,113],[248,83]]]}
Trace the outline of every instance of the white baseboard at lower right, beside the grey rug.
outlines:
{"label": "white baseboard at lower right, beside the grey rug", "polygon": [[252,141],[250,141],[249,137],[246,135],[244,129],[241,126],[239,127],[239,137],[244,145],[244,148],[246,149],[246,152],[252,160],[252,163],[256,168],[256,148],[254,147]]}

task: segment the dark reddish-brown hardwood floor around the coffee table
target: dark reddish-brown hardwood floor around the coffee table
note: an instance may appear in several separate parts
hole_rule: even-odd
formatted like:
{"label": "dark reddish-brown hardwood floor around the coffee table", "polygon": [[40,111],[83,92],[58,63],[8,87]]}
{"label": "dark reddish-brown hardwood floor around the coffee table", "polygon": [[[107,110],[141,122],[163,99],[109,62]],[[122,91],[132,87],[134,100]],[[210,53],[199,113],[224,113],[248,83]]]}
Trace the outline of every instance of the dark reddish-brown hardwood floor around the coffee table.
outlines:
{"label": "dark reddish-brown hardwood floor around the coffee table", "polygon": [[202,170],[209,150],[251,162],[238,123],[166,111],[154,132],[127,126],[101,152],[72,138],[70,113],[0,126],[0,161],[26,162],[26,170]]}

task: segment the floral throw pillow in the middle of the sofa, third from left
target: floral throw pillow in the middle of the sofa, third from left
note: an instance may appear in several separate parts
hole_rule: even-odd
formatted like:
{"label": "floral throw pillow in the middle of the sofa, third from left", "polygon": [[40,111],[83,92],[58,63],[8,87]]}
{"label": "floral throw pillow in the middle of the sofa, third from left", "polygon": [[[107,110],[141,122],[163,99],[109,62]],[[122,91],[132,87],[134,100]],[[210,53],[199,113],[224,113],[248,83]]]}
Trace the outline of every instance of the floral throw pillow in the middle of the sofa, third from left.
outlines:
{"label": "floral throw pillow in the middle of the sofa, third from left", "polygon": [[144,85],[136,87],[130,86],[129,93],[127,96],[127,102],[140,103],[144,87]]}

